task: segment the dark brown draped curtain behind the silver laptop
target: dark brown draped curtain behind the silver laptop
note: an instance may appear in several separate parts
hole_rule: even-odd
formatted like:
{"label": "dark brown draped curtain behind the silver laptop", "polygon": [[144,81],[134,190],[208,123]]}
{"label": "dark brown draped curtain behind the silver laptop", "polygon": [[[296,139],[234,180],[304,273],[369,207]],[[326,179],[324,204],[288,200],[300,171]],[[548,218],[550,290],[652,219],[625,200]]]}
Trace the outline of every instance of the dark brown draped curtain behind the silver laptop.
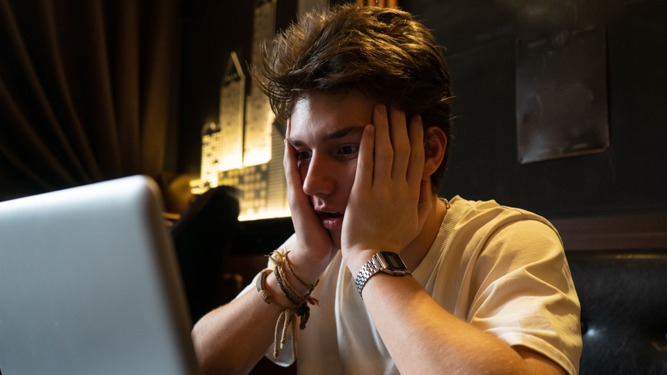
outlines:
{"label": "dark brown draped curtain behind the silver laptop", "polygon": [[176,0],[0,0],[0,193],[160,175],[179,28]]}

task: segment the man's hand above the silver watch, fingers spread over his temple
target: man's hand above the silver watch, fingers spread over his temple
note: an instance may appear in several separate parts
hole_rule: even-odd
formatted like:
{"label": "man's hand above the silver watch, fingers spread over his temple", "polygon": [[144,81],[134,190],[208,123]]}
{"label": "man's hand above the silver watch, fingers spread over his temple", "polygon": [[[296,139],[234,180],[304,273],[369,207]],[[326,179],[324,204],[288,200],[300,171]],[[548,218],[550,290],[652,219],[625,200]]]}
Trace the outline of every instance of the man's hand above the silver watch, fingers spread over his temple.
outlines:
{"label": "man's hand above the silver watch, fingers spread over his temple", "polygon": [[340,242],[348,265],[377,251],[400,253],[420,233],[426,215],[418,212],[424,160],[421,117],[413,116],[406,126],[404,112],[376,106],[373,125],[361,138],[343,220]]}

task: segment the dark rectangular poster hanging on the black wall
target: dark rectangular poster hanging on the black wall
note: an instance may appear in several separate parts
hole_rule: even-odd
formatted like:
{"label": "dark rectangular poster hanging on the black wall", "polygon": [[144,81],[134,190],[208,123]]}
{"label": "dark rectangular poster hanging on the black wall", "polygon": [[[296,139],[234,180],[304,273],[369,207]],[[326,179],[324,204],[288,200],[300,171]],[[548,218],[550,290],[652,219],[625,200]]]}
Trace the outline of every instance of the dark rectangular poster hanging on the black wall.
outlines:
{"label": "dark rectangular poster hanging on the black wall", "polygon": [[517,41],[516,119],[522,164],[609,148],[604,28]]}

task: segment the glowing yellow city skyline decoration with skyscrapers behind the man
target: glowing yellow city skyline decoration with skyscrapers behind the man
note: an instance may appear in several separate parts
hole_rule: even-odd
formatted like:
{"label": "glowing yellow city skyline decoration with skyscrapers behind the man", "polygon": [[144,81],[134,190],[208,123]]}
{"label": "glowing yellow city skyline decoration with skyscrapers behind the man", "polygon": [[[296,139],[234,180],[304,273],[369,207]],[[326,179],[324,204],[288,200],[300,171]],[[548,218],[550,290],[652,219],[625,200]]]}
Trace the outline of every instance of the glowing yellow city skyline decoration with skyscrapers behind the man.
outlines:
{"label": "glowing yellow city skyline decoration with skyscrapers behind the man", "polygon": [[[276,0],[260,1],[255,8],[253,60],[260,41],[270,45],[275,9]],[[233,186],[242,196],[240,220],[289,217],[282,165],[284,135],[274,126],[266,95],[256,88],[246,92],[245,74],[234,52],[220,85],[219,119],[219,124],[206,124],[202,129],[201,176],[190,184],[192,194]]]}

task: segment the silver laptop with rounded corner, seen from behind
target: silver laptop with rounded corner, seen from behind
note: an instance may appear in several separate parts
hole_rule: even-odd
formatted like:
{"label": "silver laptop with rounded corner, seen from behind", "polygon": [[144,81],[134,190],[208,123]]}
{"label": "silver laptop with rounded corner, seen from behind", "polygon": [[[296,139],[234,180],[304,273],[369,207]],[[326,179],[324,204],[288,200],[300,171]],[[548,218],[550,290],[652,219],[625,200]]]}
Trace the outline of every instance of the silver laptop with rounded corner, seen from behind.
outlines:
{"label": "silver laptop with rounded corner, seen from behind", "polygon": [[0,374],[197,374],[157,185],[0,202]]}

